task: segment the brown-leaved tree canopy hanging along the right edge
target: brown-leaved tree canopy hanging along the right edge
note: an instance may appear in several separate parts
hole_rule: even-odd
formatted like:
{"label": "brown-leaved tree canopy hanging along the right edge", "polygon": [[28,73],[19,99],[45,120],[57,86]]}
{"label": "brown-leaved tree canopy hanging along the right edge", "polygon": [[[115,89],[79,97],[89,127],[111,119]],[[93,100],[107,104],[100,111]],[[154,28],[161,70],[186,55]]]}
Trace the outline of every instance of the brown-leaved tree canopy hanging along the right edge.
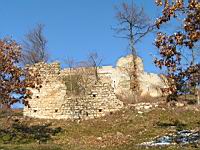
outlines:
{"label": "brown-leaved tree canopy hanging along the right edge", "polygon": [[195,44],[200,39],[200,2],[156,0],[156,3],[163,6],[162,16],[156,20],[158,29],[173,18],[182,20],[182,27],[177,32],[167,35],[159,31],[155,42],[161,56],[155,58],[155,64],[160,69],[166,68],[170,96],[176,99],[186,88],[197,86],[200,80],[199,64],[184,53],[193,55]]}

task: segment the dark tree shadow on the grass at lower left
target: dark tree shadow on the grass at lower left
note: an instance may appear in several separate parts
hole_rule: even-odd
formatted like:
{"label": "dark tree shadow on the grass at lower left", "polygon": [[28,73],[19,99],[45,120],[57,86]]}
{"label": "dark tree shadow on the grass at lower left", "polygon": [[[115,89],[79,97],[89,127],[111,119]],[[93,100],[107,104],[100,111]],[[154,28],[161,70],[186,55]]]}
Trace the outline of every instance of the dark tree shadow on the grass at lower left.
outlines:
{"label": "dark tree shadow on the grass at lower left", "polygon": [[22,123],[13,123],[8,129],[0,129],[0,143],[24,144],[24,143],[47,143],[61,128],[51,128],[51,124],[27,126]]}

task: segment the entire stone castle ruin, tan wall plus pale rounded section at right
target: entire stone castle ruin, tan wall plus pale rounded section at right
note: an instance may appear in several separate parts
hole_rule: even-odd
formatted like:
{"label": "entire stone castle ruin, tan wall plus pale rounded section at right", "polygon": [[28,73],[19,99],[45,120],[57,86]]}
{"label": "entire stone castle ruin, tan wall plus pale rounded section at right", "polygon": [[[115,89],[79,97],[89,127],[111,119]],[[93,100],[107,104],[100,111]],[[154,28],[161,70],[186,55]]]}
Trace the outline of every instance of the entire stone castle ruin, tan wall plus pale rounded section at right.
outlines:
{"label": "entire stone castle ruin, tan wall plus pale rounded section at right", "polygon": [[[71,71],[70,68],[61,70],[57,62],[35,64],[32,68],[39,70],[42,88],[31,89],[33,95],[29,99],[30,108],[25,106],[23,114],[44,119],[86,120],[120,110],[123,108],[123,102],[116,95],[123,95],[130,91],[128,69],[131,62],[132,56],[128,55],[120,58],[115,68],[98,67],[98,81],[94,79],[91,72],[87,72],[86,75],[88,68],[77,68]],[[137,63],[141,95],[161,96],[160,89],[165,87],[163,80],[157,74],[144,72],[143,62],[139,57]],[[80,72],[81,70],[84,72]],[[77,86],[79,74],[82,78]],[[75,78],[73,84],[68,84],[66,78],[72,79],[72,77]],[[69,91],[70,85],[76,87],[74,91],[78,93]]]}

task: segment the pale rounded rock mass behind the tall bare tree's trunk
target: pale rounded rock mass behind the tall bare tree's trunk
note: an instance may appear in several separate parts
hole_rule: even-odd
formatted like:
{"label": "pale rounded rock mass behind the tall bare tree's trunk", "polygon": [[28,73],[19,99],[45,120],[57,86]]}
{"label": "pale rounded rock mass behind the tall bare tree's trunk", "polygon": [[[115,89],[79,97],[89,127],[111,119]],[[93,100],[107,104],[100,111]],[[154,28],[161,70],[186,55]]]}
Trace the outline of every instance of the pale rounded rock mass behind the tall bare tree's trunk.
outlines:
{"label": "pale rounded rock mass behind the tall bare tree's trunk", "polygon": [[[130,91],[130,73],[133,66],[133,57],[132,55],[127,55],[125,57],[121,57],[116,64],[116,68],[102,68],[99,72],[104,72],[106,74],[106,70],[108,72],[108,76],[112,79],[112,86],[114,88],[115,93],[124,94]],[[138,80],[141,91],[141,96],[149,95],[151,97],[159,97],[162,96],[161,88],[167,87],[166,79],[161,78],[159,75],[154,73],[144,72],[143,61],[141,58],[136,59],[138,70]]]}

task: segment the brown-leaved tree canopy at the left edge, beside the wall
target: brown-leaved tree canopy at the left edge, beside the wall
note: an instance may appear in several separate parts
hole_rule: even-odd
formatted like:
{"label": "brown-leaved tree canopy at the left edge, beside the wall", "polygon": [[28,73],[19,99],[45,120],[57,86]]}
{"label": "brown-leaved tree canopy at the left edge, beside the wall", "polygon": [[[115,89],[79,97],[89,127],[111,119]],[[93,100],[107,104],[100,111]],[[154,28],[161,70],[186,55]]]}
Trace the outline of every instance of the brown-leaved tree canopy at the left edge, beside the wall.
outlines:
{"label": "brown-leaved tree canopy at the left edge, beside the wall", "polygon": [[0,105],[5,108],[17,102],[28,105],[28,88],[40,83],[36,72],[18,65],[20,57],[21,47],[15,41],[0,40]]}

